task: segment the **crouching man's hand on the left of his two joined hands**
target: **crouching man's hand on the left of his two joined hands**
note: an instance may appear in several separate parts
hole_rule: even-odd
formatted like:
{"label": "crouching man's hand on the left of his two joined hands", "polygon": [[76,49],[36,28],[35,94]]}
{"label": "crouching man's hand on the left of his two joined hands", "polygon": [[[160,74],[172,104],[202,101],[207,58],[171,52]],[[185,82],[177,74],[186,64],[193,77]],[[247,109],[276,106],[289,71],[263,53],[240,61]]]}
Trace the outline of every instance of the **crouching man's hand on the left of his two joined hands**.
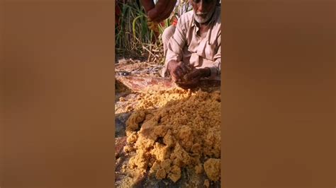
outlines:
{"label": "crouching man's hand on the left of his two joined hands", "polygon": [[191,71],[191,67],[184,64],[182,61],[169,61],[167,65],[170,76],[173,82],[179,82],[184,79],[184,76]]}

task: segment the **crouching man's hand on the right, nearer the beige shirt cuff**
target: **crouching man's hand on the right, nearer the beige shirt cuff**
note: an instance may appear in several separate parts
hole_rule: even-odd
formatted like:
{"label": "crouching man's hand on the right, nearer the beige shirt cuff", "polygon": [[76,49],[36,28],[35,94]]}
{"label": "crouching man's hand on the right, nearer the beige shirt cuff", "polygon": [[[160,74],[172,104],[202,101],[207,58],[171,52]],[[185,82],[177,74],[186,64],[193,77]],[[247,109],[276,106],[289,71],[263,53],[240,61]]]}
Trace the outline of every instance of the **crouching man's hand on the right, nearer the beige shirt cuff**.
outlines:
{"label": "crouching man's hand on the right, nearer the beige shirt cuff", "polygon": [[211,71],[208,67],[204,69],[194,69],[189,74],[184,76],[183,82],[178,82],[177,84],[181,88],[196,88],[201,78],[210,76]]}

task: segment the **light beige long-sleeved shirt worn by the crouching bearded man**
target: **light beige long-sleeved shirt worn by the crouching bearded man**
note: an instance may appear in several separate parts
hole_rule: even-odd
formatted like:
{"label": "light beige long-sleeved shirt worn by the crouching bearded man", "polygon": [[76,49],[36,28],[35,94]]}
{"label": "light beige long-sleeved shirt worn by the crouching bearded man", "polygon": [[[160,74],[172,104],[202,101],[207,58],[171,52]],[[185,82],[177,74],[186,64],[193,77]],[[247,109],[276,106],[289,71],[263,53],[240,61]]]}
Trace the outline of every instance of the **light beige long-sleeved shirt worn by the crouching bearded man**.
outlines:
{"label": "light beige long-sleeved shirt worn by the crouching bearded man", "polygon": [[168,42],[167,56],[162,77],[168,75],[167,64],[171,60],[183,61],[196,69],[211,69],[210,79],[220,79],[220,6],[216,6],[211,27],[203,39],[194,21],[194,11],[184,13],[177,23],[174,35]]}

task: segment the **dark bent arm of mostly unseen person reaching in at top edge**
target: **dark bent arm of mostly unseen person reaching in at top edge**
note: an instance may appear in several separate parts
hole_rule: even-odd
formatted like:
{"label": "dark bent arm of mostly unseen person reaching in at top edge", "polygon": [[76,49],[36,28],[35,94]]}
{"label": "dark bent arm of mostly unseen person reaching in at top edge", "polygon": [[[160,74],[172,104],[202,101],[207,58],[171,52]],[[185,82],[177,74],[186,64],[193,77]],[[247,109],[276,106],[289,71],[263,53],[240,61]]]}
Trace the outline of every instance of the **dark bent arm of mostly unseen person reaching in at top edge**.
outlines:
{"label": "dark bent arm of mostly unseen person reaching in at top edge", "polygon": [[170,16],[177,0],[159,0],[157,4],[154,4],[153,0],[141,0],[141,4],[150,20],[158,23]]}

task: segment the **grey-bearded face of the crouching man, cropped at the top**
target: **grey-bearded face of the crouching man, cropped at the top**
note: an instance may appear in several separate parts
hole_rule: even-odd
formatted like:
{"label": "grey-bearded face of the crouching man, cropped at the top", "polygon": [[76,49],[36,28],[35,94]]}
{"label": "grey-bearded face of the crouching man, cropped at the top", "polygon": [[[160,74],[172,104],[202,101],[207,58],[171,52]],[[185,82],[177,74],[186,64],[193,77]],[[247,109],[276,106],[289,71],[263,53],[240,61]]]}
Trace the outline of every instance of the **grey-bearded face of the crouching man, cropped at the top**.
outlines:
{"label": "grey-bearded face of the crouching man, cropped at the top", "polygon": [[189,0],[194,9],[194,17],[198,23],[206,23],[215,11],[218,0]]}

